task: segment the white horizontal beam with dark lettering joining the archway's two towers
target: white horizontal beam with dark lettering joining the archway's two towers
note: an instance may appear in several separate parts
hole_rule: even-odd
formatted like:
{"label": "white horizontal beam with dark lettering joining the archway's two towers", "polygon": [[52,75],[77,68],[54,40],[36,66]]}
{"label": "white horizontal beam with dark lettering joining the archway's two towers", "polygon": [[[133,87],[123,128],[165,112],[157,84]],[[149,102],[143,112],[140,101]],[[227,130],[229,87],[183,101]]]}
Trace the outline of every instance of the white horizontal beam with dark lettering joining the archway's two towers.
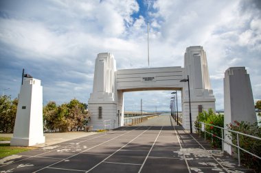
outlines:
{"label": "white horizontal beam with dark lettering joining the archway's two towers", "polygon": [[181,90],[184,68],[135,68],[117,70],[116,88],[124,92],[143,90]]}

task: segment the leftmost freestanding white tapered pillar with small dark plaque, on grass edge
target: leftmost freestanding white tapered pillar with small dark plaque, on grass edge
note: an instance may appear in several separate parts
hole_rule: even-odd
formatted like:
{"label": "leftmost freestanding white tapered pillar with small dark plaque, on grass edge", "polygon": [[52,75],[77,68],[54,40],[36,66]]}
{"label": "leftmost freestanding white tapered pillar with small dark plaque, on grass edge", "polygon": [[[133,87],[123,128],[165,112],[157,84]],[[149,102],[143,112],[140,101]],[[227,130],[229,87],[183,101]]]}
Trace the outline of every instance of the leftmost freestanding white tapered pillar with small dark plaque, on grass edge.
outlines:
{"label": "leftmost freestanding white tapered pillar with small dark plaque, on grass edge", "polygon": [[43,136],[43,87],[41,80],[24,78],[19,94],[11,146],[45,143]]}

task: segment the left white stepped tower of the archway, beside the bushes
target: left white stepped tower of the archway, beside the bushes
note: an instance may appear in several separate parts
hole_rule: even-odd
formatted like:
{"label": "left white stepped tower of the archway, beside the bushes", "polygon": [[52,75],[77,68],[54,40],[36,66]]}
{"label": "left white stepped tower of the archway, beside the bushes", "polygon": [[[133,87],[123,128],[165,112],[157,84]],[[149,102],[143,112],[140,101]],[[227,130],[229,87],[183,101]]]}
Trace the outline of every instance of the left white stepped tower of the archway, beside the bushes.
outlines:
{"label": "left white stepped tower of the archway, beside the bushes", "polygon": [[95,60],[93,93],[88,101],[91,114],[88,125],[93,126],[94,130],[104,129],[104,120],[111,120],[111,129],[118,127],[115,72],[116,63],[113,55],[99,53]]}

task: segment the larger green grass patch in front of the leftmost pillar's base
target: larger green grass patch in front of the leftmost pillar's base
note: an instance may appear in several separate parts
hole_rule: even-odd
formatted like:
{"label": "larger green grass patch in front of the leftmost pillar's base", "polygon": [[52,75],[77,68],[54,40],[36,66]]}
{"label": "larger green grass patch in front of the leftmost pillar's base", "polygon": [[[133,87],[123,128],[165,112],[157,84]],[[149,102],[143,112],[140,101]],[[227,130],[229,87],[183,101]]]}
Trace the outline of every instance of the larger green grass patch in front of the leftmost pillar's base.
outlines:
{"label": "larger green grass patch in front of the leftmost pillar's base", "polygon": [[15,155],[17,153],[35,148],[36,147],[10,146],[10,144],[0,144],[0,158]]}

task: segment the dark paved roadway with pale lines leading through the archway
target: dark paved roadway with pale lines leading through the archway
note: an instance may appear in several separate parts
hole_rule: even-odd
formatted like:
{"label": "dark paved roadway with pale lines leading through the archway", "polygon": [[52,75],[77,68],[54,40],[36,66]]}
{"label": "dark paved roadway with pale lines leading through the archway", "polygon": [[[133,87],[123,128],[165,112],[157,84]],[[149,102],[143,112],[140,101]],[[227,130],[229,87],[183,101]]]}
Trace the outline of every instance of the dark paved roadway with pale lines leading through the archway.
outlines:
{"label": "dark paved roadway with pale lines leading through the archway", "polygon": [[251,172],[173,126],[170,116],[73,139],[0,161],[0,172]]}

